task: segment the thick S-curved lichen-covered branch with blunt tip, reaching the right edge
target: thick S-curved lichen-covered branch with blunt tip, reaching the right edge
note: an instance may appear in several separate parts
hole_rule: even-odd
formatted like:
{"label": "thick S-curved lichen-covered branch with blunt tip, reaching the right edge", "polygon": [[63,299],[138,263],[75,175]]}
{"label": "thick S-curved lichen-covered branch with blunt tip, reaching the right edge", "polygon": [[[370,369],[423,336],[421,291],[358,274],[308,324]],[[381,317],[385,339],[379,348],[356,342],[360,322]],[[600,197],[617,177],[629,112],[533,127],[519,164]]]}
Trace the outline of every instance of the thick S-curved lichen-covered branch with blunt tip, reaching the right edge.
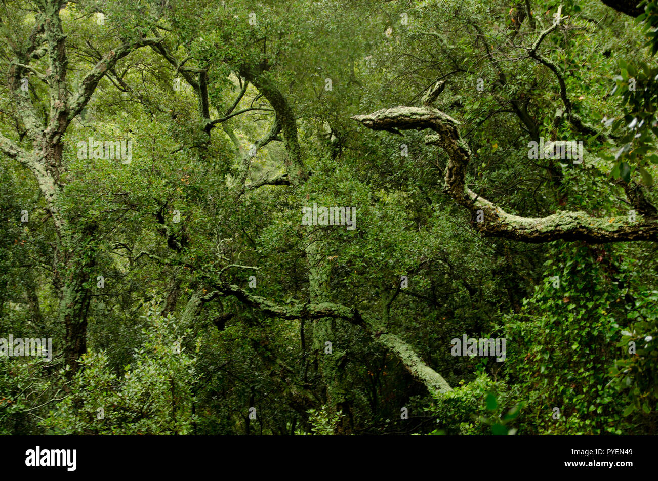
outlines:
{"label": "thick S-curved lichen-covered branch with blunt tip, reaching the right edge", "polygon": [[550,240],[586,240],[588,242],[626,242],[658,240],[658,221],[649,217],[630,221],[626,218],[594,218],[586,212],[559,212],[545,218],[525,218],[507,214],[465,185],[470,149],[459,136],[459,122],[430,107],[397,106],[368,115],[353,117],[372,130],[432,129],[426,143],[438,145],[448,154],[445,191],[473,216],[481,211],[484,221],[476,228],[488,237],[504,237],[523,242]]}

